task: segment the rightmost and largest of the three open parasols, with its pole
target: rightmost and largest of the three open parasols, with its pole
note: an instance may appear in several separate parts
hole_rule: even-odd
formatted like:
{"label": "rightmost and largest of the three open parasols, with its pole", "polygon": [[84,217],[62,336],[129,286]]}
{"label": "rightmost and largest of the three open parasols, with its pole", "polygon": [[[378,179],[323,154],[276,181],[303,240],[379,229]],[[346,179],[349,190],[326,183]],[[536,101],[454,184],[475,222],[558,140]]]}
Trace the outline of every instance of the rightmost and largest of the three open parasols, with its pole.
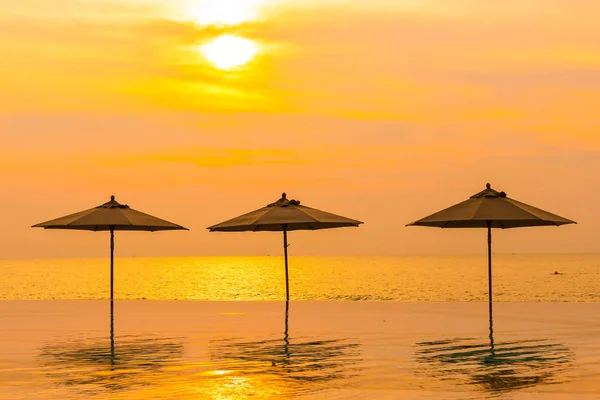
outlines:
{"label": "rightmost and largest of the three open parasols, with its pole", "polygon": [[488,295],[492,301],[492,228],[527,226],[560,226],[576,222],[513,200],[497,192],[488,183],[485,190],[468,200],[446,208],[407,226],[438,228],[487,228],[488,230]]}

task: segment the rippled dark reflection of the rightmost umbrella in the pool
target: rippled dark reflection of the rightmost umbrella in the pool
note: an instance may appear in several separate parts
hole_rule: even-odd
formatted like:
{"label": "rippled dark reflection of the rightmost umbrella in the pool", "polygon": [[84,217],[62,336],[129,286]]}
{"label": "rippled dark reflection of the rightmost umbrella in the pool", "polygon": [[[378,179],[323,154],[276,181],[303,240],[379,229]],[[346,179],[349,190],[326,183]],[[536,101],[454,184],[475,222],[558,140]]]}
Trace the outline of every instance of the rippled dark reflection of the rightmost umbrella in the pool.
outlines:
{"label": "rippled dark reflection of the rightmost umbrella in the pool", "polygon": [[548,339],[494,341],[491,303],[489,317],[489,341],[454,338],[417,343],[421,371],[493,394],[567,379],[564,372],[575,356],[571,349]]}

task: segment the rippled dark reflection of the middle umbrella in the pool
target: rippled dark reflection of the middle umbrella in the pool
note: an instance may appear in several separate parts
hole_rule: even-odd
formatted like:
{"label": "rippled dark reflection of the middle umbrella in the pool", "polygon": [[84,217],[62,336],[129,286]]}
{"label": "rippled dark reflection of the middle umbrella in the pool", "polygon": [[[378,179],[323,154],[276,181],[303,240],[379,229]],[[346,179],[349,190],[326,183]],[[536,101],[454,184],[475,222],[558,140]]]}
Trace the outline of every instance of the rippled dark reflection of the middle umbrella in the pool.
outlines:
{"label": "rippled dark reflection of the middle umbrella in the pool", "polygon": [[[263,375],[280,382],[287,390],[314,391],[320,384],[347,380],[358,374],[359,344],[344,339],[290,340],[289,303],[285,304],[283,339],[248,341],[228,338],[210,342],[211,360],[229,373]],[[330,386],[329,386],[330,387]]]}

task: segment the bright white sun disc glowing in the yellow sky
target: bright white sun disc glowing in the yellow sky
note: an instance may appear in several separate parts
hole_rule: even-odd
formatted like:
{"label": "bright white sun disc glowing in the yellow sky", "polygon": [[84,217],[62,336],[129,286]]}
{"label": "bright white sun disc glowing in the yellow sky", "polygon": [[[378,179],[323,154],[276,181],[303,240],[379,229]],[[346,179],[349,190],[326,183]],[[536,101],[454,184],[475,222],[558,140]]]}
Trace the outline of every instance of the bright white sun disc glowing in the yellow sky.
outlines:
{"label": "bright white sun disc glowing in the yellow sky", "polygon": [[230,70],[247,64],[258,52],[255,42],[235,35],[222,35],[200,47],[215,68]]}

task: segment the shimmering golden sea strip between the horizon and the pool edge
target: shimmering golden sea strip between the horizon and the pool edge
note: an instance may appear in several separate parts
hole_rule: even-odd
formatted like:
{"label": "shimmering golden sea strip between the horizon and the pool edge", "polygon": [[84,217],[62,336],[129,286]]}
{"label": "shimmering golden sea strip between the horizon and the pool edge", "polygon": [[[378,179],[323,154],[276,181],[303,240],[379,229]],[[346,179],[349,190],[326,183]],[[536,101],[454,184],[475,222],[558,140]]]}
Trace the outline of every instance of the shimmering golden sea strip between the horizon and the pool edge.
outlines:
{"label": "shimmering golden sea strip between the horizon and the pool edge", "polygon": [[[0,299],[106,299],[109,259],[0,260]],[[555,274],[558,272],[558,274]],[[487,300],[487,256],[290,257],[291,300]],[[600,301],[600,254],[497,254],[496,301]],[[282,300],[283,257],[115,259],[115,298]]]}

